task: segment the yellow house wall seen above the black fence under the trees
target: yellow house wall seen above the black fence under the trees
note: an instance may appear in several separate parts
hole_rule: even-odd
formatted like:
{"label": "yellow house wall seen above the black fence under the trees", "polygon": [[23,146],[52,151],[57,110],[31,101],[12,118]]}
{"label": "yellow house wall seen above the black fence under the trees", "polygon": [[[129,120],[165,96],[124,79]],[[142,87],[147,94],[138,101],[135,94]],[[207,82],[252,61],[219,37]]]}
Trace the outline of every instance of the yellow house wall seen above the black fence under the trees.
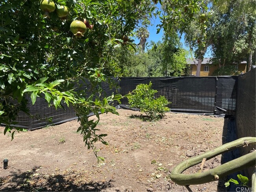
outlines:
{"label": "yellow house wall seen above the black fence under the trees", "polygon": [[[197,75],[197,66],[196,65],[190,65],[190,66],[192,66],[191,75],[196,76]],[[201,77],[213,76],[213,72],[218,69],[218,66],[208,64],[209,72],[204,72],[204,66],[206,66],[206,64],[202,64],[201,68],[200,68],[200,76]],[[246,72],[246,64],[239,64],[238,65],[238,71],[241,71],[241,72],[245,73]]]}

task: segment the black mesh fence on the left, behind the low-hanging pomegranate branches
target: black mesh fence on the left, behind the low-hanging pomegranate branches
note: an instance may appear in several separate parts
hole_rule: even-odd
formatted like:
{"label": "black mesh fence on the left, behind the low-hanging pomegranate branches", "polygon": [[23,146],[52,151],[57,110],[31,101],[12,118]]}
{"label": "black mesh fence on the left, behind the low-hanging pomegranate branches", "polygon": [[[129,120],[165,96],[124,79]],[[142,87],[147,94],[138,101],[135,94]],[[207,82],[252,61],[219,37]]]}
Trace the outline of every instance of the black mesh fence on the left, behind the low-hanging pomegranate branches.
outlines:
{"label": "black mesh fence on the left, behind the low-hanging pomegranate branches", "polygon": [[[116,84],[118,83],[115,78],[111,78],[111,81],[115,81]],[[85,97],[88,97],[90,95],[90,86],[91,85],[89,81],[85,79],[83,81],[80,81],[79,86],[76,86],[74,88],[75,90],[84,90],[86,94]],[[115,92],[115,89],[110,88],[109,84],[105,82],[101,83],[101,88],[102,97],[111,96],[111,94]],[[96,89],[98,89],[98,87]],[[17,122],[17,124],[15,124],[16,127],[22,127],[33,130],[45,127],[47,125],[61,124],[78,118],[73,107],[67,107],[67,104],[65,103],[62,103],[64,109],[58,108],[56,110],[53,105],[48,107],[48,103],[46,102],[44,96],[42,96],[41,98],[37,98],[37,101],[34,105],[32,105],[30,96],[27,95],[26,99],[28,100],[27,107],[31,115],[29,116],[24,112],[20,112],[17,120],[15,121]],[[95,97],[92,100],[95,100]],[[113,103],[113,105],[116,106],[117,104]],[[93,115],[93,113],[91,113],[90,115]]]}

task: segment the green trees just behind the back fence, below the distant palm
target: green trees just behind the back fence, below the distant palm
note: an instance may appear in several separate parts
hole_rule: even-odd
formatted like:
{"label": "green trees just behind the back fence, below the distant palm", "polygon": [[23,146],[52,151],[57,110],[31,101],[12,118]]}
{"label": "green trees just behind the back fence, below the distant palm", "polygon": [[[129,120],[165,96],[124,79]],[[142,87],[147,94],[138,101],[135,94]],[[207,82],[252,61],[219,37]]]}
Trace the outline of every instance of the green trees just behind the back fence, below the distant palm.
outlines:
{"label": "green trees just behind the back fence, below the distant palm", "polygon": [[115,50],[122,76],[160,77],[186,75],[187,51],[180,47],[177,33],[163,41],[150,42],[147,52],[127,49]]}

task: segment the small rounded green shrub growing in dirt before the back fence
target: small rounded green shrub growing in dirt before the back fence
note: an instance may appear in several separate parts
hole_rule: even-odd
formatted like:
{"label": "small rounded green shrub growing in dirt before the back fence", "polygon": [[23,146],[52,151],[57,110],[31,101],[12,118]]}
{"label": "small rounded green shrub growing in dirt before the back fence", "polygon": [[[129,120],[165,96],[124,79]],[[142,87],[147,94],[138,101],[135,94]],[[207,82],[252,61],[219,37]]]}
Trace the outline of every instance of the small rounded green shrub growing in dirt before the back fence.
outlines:
{"label": "small rounded green shrub growing in dirt before the back fence", "polygon": [[148,116],[148,120],[163,118],[165,112],[169,111],[166,105],[169,104],[165,96],[155,98],[157,90],[151,89],[152,83],[139,84],[136,89],[128,94],[128,102],[131,107],[139,108]]}

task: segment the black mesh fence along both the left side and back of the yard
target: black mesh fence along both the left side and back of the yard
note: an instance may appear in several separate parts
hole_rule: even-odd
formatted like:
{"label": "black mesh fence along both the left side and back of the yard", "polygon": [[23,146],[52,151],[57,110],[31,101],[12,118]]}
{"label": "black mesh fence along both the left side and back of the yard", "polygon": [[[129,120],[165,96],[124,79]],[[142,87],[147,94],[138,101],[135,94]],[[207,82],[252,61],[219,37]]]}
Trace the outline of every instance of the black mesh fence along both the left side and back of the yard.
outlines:
{"label": "black mesh fence along both the left side and back of the yard", "polygon": [[[117,93],[122,95],[132,92],[138,84],[152,82],[152,89],[158,90],[155,95],[165,96],[171,104],[168,105],[173,112],[200,113],[234,116],[236,111],[237,77],[163,77],[163,78],[112,78],[119,84]],[[89,90],[88,81],[80,82],[78,89]],[[116,90],[107,83],[102,84],[104,96],[110,96]],[[88,93],[87,93],[88,94]],[[28,108],[34,116],[20,113],[15,126],[27,129],[37,129],[48,124],[60,124],[77,118],[72,107],[64,105],[65,109],[56,110],[53,106],[48,107],[44,98],[37,98],[32,105],[28,96]],[[127,98],[121,100],[121,107],[129,108]],[[113,103],[119,107],[117,103]]]}

